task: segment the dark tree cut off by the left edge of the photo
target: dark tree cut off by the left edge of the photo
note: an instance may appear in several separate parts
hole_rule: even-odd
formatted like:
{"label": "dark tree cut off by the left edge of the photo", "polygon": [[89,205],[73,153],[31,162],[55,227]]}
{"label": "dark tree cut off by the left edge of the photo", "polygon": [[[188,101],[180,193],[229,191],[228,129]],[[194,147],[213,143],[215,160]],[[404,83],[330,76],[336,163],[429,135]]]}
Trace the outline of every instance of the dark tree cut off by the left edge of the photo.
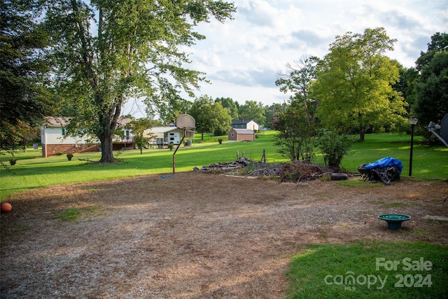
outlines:
{"label": "dark tree cut off by the left edge of the photo", "polygon": [[[47,34],[38,22],[39,1],[0,3],[0,148],[15,150],[52,111],[46,59]],[[54,103],[53,105],[55,105]]]}

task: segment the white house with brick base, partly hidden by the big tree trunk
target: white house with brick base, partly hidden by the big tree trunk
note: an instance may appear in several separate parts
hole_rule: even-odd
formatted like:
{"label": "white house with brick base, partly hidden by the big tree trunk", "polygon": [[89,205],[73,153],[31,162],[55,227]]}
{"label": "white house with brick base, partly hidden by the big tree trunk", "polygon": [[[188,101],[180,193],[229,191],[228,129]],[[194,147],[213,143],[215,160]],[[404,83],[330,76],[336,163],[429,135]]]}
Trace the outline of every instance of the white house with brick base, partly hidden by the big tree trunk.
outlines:
{"label": "white house with brick base, partly hidden by the big tree trunk", "polygon": [[[113,138],[113,149],[135,148],[134,136],[125,125],[130,118],[120,118],[119,130],[123,130],[125,137]],[[92,137],[78,137],[66,134],[66,125],[69,118],[49,116],[41,126],[42,156],[49,157],[58,153],[85,153],[99,151],[99,140]]]}

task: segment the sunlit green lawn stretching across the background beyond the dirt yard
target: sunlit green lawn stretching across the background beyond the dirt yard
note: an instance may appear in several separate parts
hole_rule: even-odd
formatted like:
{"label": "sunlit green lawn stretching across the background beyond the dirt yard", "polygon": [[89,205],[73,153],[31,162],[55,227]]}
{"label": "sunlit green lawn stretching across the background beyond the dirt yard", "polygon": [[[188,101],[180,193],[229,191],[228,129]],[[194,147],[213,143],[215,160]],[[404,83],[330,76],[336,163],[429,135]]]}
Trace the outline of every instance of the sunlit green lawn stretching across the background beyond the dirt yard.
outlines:
{"label": "sunlit green lawn stretching across the background beyond the dirt yard", "polygon": [[[187,172],[193,167],[202,167],[212,162],[227,162],[244,154],[251,160],[260,160],[265,150],[269,163],[286,162],[287,159],[276,153],[273,144],[274,131],[257,134],[251,142],[227,141],[227,137],[206,136],[207,142],[200,143],[197,134],[191,147],[179,148],[176,153],[176,172]],[[223,144],[218,144],[223,138]],[[412,176],[418,178],[447,179],[448,148],[442,146],[423,146],[416,138]],[[101,153],[81,153],[73,156],[71,161],[65,155],[40,158],[41,150],[29,149],[27,153],[17,153],[17,164],[11,171],[0,169],[0,200],[6,196],[31,188],[52,186],[64,183],[84,181],[100,181],[144,174],[162,174],[173,171],[173,153],[167,148],[150,148],[141,155],[139,150],[116,152],[117,158],[123,159],[116,165],[93,165],[84,160],[98,161]],[[374,162],[380,158],[391,156],[402,161],[402,176],[407,176],[409,165],[409,135],[407,134],[367,134],[364,142],[353,144],[352,153],[342,160],[342,167],[350,172],[357,172],[356,167],[363,163]],[[1,155],[0,161],[9,165],[10,155]],[[83,159],[83,160],[78,160]],[[317,155],[315,162],[322,163]]]}

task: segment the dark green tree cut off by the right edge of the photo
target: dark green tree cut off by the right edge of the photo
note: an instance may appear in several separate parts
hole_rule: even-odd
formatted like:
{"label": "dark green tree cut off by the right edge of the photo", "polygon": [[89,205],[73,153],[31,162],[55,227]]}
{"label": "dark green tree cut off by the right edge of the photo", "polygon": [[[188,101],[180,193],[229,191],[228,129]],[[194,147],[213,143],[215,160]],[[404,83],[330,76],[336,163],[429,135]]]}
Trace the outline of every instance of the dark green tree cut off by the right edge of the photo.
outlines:
{"label": "dark green tree cut off by the right edge of the photo", "polygon": [[416,61],[419,80],[415,84],[416,118],[424,125],[440,123],[448,113],[448,34],[431,36],[428,50]]}

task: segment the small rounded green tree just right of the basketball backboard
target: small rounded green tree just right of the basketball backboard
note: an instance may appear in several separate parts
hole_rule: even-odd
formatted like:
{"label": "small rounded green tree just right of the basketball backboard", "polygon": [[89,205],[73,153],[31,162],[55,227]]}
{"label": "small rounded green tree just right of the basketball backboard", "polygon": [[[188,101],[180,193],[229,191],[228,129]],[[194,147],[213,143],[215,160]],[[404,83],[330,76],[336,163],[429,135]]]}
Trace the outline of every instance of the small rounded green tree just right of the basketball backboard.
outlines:
{"label": "small rounded green tree just right of the basketball backboard", "polygon": [[201,141],[204,142],[204,133],[228,132],[232,117],[221,102],[214,102],[211,97],[203,95],[195,99],[189,114],[196,120],[196,131],[201,133]]}

